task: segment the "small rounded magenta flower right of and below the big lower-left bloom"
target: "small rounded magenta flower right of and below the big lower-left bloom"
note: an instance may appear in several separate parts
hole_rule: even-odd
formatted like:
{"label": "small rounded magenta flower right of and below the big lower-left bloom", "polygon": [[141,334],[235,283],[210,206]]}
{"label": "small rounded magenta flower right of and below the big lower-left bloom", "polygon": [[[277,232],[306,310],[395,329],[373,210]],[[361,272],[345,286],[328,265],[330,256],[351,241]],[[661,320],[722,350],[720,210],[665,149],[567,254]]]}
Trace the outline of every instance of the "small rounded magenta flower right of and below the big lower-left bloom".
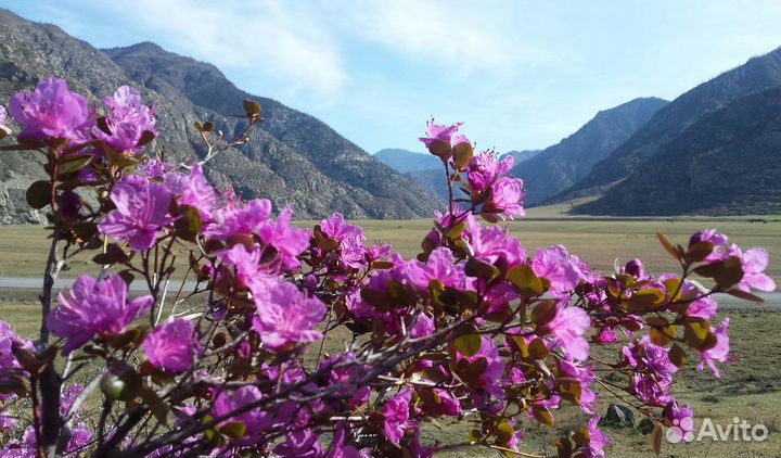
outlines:
{"label": "small rounded magenta flower right of and below the big lower-left bloom", "polygon": [[146,335],[143,347],[152,366],[180,373],[192,367],[193,357],[201,351],[201,343],[195,336],[192,321],[179,318]]}

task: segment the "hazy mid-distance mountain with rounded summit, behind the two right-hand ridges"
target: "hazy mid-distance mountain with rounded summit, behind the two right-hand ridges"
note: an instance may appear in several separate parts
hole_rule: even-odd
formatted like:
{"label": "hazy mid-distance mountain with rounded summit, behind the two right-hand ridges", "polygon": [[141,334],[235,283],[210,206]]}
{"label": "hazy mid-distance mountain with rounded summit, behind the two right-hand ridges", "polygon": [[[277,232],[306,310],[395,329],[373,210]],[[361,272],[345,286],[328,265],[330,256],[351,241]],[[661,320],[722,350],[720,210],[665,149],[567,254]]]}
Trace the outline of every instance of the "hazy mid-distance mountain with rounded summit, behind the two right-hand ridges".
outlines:
{"label": "hazy mid-distance mountain with rounded summit, behind the two right-hand ridges", "polygon": [[585,178],[667,103],[641,98],[601,111],[575,133],[514,166],[510,173],[523,178],[526,204],[538,204]]}

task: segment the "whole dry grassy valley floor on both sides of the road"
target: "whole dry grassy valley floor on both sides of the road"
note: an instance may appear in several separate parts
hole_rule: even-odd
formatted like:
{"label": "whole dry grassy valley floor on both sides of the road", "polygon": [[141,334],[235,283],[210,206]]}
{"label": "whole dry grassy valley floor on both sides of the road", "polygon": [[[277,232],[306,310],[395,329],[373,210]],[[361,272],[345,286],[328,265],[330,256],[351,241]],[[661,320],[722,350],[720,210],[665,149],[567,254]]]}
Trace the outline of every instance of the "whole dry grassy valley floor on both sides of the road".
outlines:
{"label": "whole dry grassy valley floor on both sides of the road", "polygon": [[[686,243],[688,237],[702,228],[715,228],[744,247],[765,246],[771,253],[768,273],[781,284],[781,217],[732,218],[574,218],[563,216],[561,207],[534,208],[527,218],[508,224],[528,252],[537,247],[561,243],[572,253],[590,262],[601,270],[611,270],[615,258],[626,262],[642,258],[655,273],[675,269],[675,263],[656,240],[664,232],[673,241]],[[759,219],[764,219],[763,222]],[[754,221],[752,221],[754,220]],[[315,221],[298,221],[311,227]],[[414,256],[420,241],[431,228],[428,219],[412,221],[358,221],[366,228],[370,241],[390,243],[405,256]],[[47,252],[46,230],[41,227],[0,227],[0,277],[39,277]],[[182,256],[184,258],[184,256]],[[73,263],[63,277],[74,278],[81,272],[94,272],[95,266],[85,256]],[[675,270],[673,270],[675,271]],[[663,443],[665,457],[781,457],[781,308],[752,306],[726,310],[731,318],[730,334],[734,361],[722,369],[722,378],[699,373],[693,364],[687,366],[679,379],[678,395],[691,403],[699,418],[709,417],[715,423],[730,424],[733,417],[754,424],[765,424],[769,437],[760,443],[715,442],[709,440],[688,445]],[[20,334],[34,336],[38,332],[39,315],[34,292],[0,290],[0,319],[11,322]],[[328,346],[341,346],[335,335]],[[598,411],[604,412],[612,402],[607,395]],[[554,454],[550,441],[578,424],[575,409],[564,408],[556,414],[553,429],[530,427],[525,451],[547,456]],[[697,424],[700,424],[697,422]],[[431,425],[428,440],[443,444],[462,443],[469,425]],[[609,457],[652,456],[649,436],[632,429],[607,429],[615,445]],[[437,454],[438,457],[498,457],[485,449],[457,448]]]}

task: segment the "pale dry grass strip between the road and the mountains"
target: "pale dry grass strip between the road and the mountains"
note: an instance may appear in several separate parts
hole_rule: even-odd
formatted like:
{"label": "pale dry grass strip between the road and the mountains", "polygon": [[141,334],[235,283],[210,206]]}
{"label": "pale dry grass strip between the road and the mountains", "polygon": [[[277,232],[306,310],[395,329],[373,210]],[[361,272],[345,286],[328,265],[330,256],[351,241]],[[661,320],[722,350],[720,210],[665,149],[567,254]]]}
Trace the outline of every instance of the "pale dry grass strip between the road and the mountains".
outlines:
{"label": "pale dry grass strip between the road and the mountains", "polygon": [[[676,263],[656,239],[665,233],[674,242],[686,243],[693,232],[713,228],[743,247],[765,246],[770,252],[768,273],[781,282],[781,216],[676,217],[676,218],[593,218],[571,217],[566,206],[552,205],[528,209],[527,216],[503,224],[510,227],[528,252],[540,246],[563,244],[592,268],[612,270],[614,259],[627,262],[639,257],[654,272],[675,269]],[[431,219],[359,220],[369,241],[390,243],[406,257],[414,256],[420,242],[432,227]],[[312,227],[316,221],[297,221]],[[48,250],[47,231],[38,226],[0,227],[0,277],[39,277]],[[90,256],[79,256],[71,271],[74,278],[94,271]],[[187,259],[185,255],[180,256]]]}

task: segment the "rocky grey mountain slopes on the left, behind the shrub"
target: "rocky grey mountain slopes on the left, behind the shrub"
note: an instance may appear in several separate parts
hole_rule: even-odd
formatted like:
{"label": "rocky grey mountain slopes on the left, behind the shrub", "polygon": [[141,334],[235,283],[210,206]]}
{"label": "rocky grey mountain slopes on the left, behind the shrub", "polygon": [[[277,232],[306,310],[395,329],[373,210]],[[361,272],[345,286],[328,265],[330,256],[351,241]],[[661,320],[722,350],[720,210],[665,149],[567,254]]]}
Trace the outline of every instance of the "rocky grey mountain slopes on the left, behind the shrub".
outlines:
{"label": "rocky grey mountain slopes on the left, behind the shrub", "polygon": [[[238,89],[214,65],[153,43],[98,50],[53,25],[0,10],[0,98],[29,91],[42,78],[67,79],[93,102],[130,84],[155,105],[161,137],[156,151],[174,161],[203,157],[195,120],[212,120],[227,137],[243,122],[243,99],[257,100],[266,123],[249,142],[218,155],[207,167],[217,187],[232,185],[246,199],[268,198],[279,211],[291,204],[297,218],[342,212],[348,218],[428,216],[439,202],[420,186],[374,160],[324,123],[282,103]],[[35,222],[24,191],[39,174],[29,154],[0,155],[0,221]],[[39,163],[38,163],[39,164]]]}

